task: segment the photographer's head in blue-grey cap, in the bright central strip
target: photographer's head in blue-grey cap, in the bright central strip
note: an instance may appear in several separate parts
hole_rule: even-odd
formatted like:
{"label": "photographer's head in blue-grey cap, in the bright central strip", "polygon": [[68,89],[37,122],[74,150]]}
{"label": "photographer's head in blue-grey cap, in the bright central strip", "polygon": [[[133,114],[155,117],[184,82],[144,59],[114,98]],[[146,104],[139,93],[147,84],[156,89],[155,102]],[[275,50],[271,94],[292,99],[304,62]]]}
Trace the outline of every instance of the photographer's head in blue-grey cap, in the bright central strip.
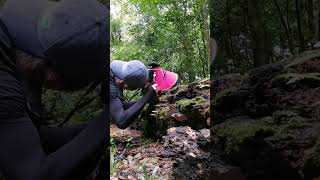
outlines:
{"label": "photographer's head in blue-grey cap, in the bright central strip", "polygon": [[116,77],[116,83],[121,89],[135,90],[143,88],[148,81],[147,67],[138,60],[129,62],[114,60],[110,69]]}

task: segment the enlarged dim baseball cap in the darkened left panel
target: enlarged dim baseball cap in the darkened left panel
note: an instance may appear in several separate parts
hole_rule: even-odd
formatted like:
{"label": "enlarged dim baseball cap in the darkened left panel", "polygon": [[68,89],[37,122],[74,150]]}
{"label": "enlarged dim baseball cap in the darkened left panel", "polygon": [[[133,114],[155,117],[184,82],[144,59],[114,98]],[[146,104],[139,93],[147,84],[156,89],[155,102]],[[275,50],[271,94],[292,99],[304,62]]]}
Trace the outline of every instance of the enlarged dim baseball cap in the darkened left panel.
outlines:
{"label": "enlarged dim baseball cap in the darkened left panel", "polygon": [[7,0],[1,19],[13,44],[49,61],[64,78],[106,76],[109,10],[96,0]]}

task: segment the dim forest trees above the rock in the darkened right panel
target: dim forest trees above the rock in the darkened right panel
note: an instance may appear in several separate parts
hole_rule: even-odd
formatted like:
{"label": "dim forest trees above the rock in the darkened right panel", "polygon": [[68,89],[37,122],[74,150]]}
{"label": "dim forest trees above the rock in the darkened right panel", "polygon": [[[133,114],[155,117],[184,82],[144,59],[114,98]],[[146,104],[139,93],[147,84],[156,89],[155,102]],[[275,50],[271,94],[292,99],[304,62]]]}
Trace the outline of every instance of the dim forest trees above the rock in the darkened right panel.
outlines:
{"label": "dim forest trees above the rock in the darkened right panel", "polygon": [[[319,0],[211,1],[218,44],[212,73],[245,73],[298,54],[320,41]],[[319,46],[319,43],[318,43]]]}

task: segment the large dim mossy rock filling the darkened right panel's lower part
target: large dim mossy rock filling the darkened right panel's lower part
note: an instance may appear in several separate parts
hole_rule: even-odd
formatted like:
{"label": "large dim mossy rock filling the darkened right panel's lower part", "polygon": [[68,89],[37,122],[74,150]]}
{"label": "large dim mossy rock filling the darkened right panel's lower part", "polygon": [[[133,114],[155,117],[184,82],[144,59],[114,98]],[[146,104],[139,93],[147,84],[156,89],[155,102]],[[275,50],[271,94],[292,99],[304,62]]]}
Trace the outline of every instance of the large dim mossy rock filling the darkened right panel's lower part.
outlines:
{"label": "large dim mossy rock filling the darkened right panel's lower part", "polygon": [[[214,88],[211,154],[249,180],[319,178],[319,73],[320,50],[312,50]],[[212,172],[232,179],[237,168]]]}

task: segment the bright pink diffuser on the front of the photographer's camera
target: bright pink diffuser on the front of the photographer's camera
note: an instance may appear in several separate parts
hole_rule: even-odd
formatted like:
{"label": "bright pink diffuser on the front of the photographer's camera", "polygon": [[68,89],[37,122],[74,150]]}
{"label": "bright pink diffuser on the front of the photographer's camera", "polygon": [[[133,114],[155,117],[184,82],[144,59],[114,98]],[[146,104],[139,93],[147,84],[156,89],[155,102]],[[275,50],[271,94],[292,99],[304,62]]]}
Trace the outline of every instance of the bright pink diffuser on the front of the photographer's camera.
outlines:
{"label": "bright pink diffuser on the front of the photographer's camera", "polygon": [[168,90],[174,86],[178,80],[178,74],[167,71],[160,67],[154,69],[154,81],[158,84],[158,90]]}

